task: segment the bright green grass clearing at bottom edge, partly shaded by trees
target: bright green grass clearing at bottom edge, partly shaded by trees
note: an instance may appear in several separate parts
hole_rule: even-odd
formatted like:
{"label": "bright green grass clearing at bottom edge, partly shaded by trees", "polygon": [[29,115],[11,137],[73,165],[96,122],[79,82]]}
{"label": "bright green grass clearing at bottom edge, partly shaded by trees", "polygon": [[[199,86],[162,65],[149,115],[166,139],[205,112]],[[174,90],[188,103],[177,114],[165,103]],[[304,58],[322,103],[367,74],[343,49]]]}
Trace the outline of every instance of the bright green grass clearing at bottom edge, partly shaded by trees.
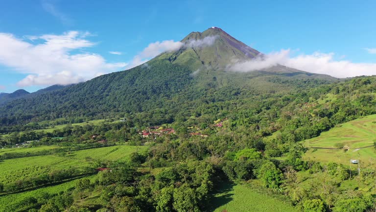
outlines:
{"label": "bright green grass clearing at bottom edge, partly shaded by trees", "polygon": [[211,200],[212,212],[299,212],[282,195],[269,195],[256,181],[224,184]]}

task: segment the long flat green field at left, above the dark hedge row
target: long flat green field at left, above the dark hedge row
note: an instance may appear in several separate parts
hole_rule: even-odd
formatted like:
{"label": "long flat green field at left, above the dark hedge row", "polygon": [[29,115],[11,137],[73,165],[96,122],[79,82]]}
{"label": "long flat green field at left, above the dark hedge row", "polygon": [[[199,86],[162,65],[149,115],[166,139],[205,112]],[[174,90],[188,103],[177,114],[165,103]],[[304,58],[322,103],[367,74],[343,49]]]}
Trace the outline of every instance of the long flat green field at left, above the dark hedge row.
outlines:
{"label": "long flat green field at left, above the dark hedge row", "polygon": [[46,174],[52,170],[84,167],[95,159],[102,161],[126,160],[131,153],[142,151],[146,148],[146,146],[121,145],[74,151],[64,157],[46,155],[5,159],[0,162],[0,167],[2,168],[0,182],[7,184],[15,180]]}

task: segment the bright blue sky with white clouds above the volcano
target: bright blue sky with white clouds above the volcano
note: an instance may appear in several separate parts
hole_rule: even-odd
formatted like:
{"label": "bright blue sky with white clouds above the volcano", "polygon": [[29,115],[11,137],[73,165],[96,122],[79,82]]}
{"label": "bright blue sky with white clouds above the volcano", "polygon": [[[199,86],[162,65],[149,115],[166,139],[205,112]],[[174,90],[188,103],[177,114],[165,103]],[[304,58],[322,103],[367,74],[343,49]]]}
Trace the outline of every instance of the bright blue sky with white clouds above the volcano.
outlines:
{"label": "bright blue sky with white clouds above the volcano", "polygon": [[127,69],[150,44],[212,26],[262,53],[283,54],[295,68],[372,75],[375,8],[376,1],[366,0],[2,0],[0,92]]}

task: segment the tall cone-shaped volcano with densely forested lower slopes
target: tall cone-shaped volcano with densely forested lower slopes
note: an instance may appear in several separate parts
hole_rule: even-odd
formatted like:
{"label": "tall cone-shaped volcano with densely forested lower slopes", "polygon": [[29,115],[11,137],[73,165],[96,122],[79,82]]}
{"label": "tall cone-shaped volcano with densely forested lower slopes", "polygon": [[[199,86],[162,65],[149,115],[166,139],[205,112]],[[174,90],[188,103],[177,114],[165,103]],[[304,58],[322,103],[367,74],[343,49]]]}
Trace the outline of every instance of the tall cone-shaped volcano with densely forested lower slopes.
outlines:
{"label": "tall cone-shaped volcano with densely forested lower slopes", "polygon": [[[211,43],[204,45],[206,38]],[[0,124],[130,117],[140,112],[147,114],[145,122],[171,123],[177,114],[194,110],[202,100],[225,102],[260,94],[290,93],[297,92],[299,86],[309,88],[338,81],[281,65],[245,73],[228,71],[226,64],[234,59],[253,59],[262,54],[217,27],[192,32],[182,43],[179,50],[162,53],[130,70],[12,101],[0,107]]]}

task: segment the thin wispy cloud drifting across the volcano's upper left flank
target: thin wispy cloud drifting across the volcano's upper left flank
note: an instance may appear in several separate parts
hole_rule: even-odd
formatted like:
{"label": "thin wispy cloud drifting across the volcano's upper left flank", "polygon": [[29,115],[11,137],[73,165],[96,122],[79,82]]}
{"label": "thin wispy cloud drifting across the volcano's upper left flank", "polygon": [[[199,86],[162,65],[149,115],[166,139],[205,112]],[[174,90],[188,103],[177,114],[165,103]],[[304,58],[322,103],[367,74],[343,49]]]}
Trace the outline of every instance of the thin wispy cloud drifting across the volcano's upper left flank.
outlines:
{"label": "thin wispy cloud drifting across the volcano's upper left flank", "polygon": [[214,44],[215,39],[218,36],[207,36],[203,39],[199,40],[190,40],[187,43],[183,43],[180,41],[173,41],[173,40],[165,40],[162,42],[155,42],[149,44],[143,51],[136,56],[134,56],[132,62],[126,67],[127,69],[136,67],[142,63],[147,62],[149,59],[157,56],[160,53],[164,52],[173,52],[179,50],[182,47],[185,48],[200,48],[205,46],[210,46]]}

